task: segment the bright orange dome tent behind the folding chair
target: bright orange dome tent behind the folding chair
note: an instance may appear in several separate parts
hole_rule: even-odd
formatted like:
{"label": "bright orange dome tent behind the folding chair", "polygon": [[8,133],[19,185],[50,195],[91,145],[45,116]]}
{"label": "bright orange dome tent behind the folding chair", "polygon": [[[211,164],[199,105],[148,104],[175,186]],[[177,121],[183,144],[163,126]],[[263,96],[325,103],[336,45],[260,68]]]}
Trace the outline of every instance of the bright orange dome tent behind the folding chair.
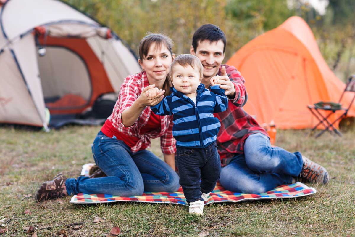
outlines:
{"label": "bright orange dome tent behind the folding chair", "polygon": [[[281,129],[315,126],[318,120],[307,105],[338,102],[345,88],[324,61],[311,29],[297,16],[247,43],[227,64],[246,79],[249,97],[245,111],[260,124],[274,120]],[[344,107],[351,96],[345,93]],[[355,105],[348,116],[355,117]]]}

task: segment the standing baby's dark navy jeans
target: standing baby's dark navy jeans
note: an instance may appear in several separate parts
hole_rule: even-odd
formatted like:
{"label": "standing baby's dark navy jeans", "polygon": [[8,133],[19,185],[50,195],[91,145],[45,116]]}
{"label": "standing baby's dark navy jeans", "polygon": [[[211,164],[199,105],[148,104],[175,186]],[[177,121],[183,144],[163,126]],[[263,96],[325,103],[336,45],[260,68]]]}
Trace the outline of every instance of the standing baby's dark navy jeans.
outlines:
{"label": "standing baby's dark navy jeans", "polygon": [[180,185],[187,203],[203,200],[201,194],[212,192],[220,176],[221,162],[216,143],[205,148],[176,147],[176,154]]}

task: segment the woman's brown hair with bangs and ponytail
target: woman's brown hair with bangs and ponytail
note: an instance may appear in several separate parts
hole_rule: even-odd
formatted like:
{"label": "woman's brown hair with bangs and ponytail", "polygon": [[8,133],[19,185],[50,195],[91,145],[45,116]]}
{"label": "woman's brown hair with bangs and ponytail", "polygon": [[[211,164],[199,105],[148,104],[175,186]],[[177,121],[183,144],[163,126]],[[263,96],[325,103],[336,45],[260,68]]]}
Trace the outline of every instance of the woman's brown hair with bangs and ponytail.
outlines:
{"label": "woman's brown hair with bangs and ponytail", "polygon": [[[155,47],[162,47],[162,44],[169,50],[171,57],[173,56],[173,41],[164,34],[151,34],[148,33],[146,37],[144,37],[138,45],[138,55],[140,60],[147,56],[149,47],[155,43]],[[171,94],[170,87],[173,86],[170,80],[170,75],[166,76],[163,90],[165,90],[164,96],[169,96]]]}

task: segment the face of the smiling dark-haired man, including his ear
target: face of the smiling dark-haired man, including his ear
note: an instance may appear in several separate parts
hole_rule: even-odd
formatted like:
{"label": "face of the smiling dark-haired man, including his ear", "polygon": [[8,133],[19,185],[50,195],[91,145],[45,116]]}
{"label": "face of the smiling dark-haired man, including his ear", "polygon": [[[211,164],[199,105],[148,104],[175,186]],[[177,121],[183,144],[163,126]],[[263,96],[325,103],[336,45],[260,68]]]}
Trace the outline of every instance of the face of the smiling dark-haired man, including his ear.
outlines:
{"label": "face of the smiling dark-haired man, including his ear", "polygon": [[209,81],[212,76],[218,73],[219,66],[224,59],[223,48],[224,43],[221,39],[217,42],[200,41],[197,44],[196,52],[191,45],[190,53],[197,56],[202,63],[204,82]]}

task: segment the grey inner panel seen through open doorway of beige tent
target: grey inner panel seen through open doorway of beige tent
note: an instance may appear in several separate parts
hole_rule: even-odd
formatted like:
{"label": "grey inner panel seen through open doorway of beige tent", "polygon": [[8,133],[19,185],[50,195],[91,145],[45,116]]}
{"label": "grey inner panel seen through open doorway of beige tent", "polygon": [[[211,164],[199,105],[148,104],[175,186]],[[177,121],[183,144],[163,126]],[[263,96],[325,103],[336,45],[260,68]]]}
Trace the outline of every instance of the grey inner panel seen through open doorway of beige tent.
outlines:
{"label": "grey inner panel seen through open doorway of beige tent", "polygon": [[86,106],[91,97],[91,80],[83,59],[64,47],[45,47],[38,67],[44,101],[49,109]]}

